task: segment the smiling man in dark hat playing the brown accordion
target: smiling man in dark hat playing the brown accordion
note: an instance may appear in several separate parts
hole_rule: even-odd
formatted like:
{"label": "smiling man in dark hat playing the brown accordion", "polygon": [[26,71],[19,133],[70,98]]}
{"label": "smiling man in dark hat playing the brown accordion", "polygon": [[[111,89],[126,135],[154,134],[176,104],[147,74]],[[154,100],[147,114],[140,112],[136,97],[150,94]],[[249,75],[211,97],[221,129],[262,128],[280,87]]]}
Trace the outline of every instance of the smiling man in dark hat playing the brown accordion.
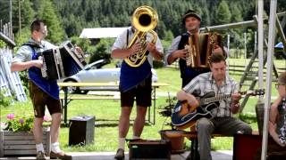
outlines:
{"label": "smiling man in dark hat playing the brown accordion", "polygon": [[[181,70],[181,87],[184,87],[188,84],[194,77],[199,74],[209,72],[209,68],[192,68],[187,67],[186,58],[188,56],[188,50],[185,49],[185,45],[189,44],[189,36],[190,35],[198,35],[199,27],[201,23],[201,17],[198,13],[189,10],[182,16],[182,26],[184,26],[187,30],[186,33],[181,34],[181,36],[177,36],[173,39],[172,45],[169,48],[168,52],[165,56],[165,63],[171,65],[173,61],[180,59],[180,70]],[[213,53],[223,54],[226,56],[226,53],[223,50],[223,46],[215,46]],[[199,56],[206,56],[201,54],[206,54],[203,52],[197,53]]]}

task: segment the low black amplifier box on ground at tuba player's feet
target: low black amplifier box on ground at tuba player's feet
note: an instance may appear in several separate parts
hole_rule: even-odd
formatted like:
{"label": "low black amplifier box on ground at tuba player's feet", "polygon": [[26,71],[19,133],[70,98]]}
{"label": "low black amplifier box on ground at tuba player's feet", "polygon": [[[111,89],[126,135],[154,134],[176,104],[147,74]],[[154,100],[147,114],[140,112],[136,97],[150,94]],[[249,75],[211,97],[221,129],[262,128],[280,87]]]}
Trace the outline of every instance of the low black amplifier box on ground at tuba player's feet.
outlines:
{"label": "low black amplifier box on ground at tuba player's feet", "polygon": [[129,159],[171,159],[168,140],[130,140]]}

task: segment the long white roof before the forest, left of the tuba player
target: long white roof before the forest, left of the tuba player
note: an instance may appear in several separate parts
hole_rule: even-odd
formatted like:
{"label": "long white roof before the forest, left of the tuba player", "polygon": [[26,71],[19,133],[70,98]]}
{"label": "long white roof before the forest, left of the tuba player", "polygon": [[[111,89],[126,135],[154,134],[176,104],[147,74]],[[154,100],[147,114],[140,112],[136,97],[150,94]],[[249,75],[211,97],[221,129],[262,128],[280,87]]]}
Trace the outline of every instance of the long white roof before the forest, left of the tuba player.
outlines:
{"label": "long white roof before the forest, left of the tuba player", "polygon": [[117,37],[126,28],[84,28],[80,34],[80,38],[106,38]]}

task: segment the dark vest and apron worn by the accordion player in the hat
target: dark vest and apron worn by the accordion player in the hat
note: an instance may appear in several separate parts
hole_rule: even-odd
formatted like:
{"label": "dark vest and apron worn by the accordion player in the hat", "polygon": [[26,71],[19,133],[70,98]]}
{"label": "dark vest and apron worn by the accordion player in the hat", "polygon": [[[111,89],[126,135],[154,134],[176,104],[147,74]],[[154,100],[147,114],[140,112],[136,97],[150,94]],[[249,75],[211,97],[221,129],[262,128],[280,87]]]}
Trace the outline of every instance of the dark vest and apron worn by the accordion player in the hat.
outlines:
{"label": "dark vest and apron worn by the accordion player in the hat", "polygon": [[[178,46],[178,50],[185,48],[185,44],[188,44],[189,33],[184,33],[181,35],[181,41]],[[189,68],[187,67],[186,60],[179,60],[180,71],[181,71],[181,88],[189,84],[189,82],[196,76],[209,72],[209,68]]]}

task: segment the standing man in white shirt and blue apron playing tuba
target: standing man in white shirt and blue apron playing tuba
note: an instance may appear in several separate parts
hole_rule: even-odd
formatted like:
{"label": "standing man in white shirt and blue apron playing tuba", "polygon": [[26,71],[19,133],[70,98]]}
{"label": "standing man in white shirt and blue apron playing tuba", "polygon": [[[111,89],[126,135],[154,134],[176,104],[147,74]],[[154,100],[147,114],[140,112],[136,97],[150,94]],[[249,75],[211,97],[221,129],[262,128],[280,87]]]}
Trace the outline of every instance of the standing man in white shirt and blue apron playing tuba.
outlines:
{"label": "standing man in white shirt and blue apron playing tuba", "polygon": [[[144,12],[147,9],[147,7],[138,8],[135,12]],[[134,17],[135,12],[133,13],[133,20],[134,18],[139,20],[139,18]],[[153,15],[149,15],[149,17],[150,19],[154,18]],[[140,139],[145,124],[147,107],[151,106],[152,60],[153,58],[156,60],[162,60],[163,58],[163,46],[159,38],[157,38],[155,43],[150,42],[152,36],[149,33],[147,33],[146,36],[136,38],[134,35],[136,35],[139,29],[140,24],[134,24],[134,21],[132,21],[132,26],[117,37],[112,47],[111,56],[114,59],[124,59],[122,61],[120,76],[121,116],[118,125],[119,138],[118,149],[114,156],[115,159],[124,159],[125,138],[130,127],[130,113],[135,97],[137,115],[133,124],[133,139]],[[128,47],[134,38],[136,38],[135,43]],[[142,38],[146,40],[146,43],[143,42],[142,44]],[[130,61],[129,63],[126,62],[126,59],[130,58],[130,56],[132,56],[130,60],[140,57],[140,52],[144,50],[146,50],[146,52],[143,53],[146,54],[147,57],[141,61],[139,67],[133,67],[132,64],[130,65]]]}

